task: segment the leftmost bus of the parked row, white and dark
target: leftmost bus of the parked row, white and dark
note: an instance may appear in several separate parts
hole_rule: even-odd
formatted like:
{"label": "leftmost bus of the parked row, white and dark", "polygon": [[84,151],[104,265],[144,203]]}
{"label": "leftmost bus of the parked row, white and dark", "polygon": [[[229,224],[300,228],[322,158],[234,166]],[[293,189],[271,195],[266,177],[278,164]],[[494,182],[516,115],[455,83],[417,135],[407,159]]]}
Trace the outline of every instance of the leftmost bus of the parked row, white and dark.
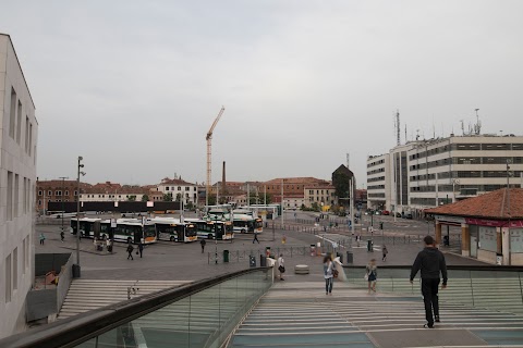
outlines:
{"label": "leftmost bus of the parked row, white and dark", "polygon": [[[156,228],[155,224],[147,222],[142,224],[137,219],[119,219],[117,220],[117,227],[111,228],[110,220],[80,219],[80,233],[82,238],[94,238],[97,234],[96,225],[99,224],[98,238],[111,238],[114,241],[125,241],[139,244],[142,240],[144,244],[156,243]],[[76,235],[77,220],[71,219],[71,233]],[[113,229],[113,231],[112,231]]]}

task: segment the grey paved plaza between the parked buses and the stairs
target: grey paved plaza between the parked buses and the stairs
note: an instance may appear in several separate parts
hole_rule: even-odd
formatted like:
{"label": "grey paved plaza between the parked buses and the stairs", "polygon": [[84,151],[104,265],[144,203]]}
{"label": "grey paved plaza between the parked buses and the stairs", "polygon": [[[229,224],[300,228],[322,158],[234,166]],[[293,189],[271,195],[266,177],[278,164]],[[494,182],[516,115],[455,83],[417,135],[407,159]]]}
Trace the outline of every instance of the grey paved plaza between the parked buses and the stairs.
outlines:
{"label": "grey paved plaza between the parked buses and the stairs", "polygon": [[[384,216],[385,217],[385,216]],[[390,217],[392,219],[392,217]],[[69,222],[68,222],[69,224]],[[68,225],[66,224],[66,225]],[[233,271],[243,270],[250,266],[248,256],[256,257],[256,265],[259,265],[259,256],[265,254],[265,249],[270,247],[271,253],[277,256],[284,254],[285,266],[288,270],[287,281],[323,281],[323,257],[311,256],[311,245],[321,243],[324,250],[331,246],[331,241],[338,245],[336,249],[346,261],[346,251],[353,253],[354,265],[365,265],[370,259],[376,259],[378,268],[380,265],[411,265],[417,252],[423,248],[421,239],[425,235],[424,222],[412,222],[399,219],[398,225],[393,225],[391,220],[386,223],[390,229],[385,229],[381,239],[380,231],[373,236],[366,233],[360,226],[356,234],[362,235],[360,246],[354,240],[351,232],[341,226],[338,231],[311,232],[311,225],[299,224],[288,219],[287,228],[291,231],[272,229],[271,225],[264,229],[258,236],[259,244],[253,244],[253,235],[235,234],[234,240],[214,243],[209,240],[202,253],[199,243],[175,244],[169,241],[159,241],[147,246],[144,249],[143,258],[133,254],[134,260],[127,260],[125,244],[115,243],[112,253],[107,251],[95,251],[93,239],[82,239],[80,243],[80,258],[82,266],[82,278],[92,279],[155,279],[155,281],[196,281],[224,274]],[[402,228],[408,231],[409,235],[415,234],[415,229],[401,227],[401,225],[418,224],[422,229],[417,231],[418,238],[406,239],[402,237]],[[69,228],[68,228],[69,229]],[[306,232],[305,232],[306,231]],[[40,233],[46,235],[44,246],[38,244]],[[36,226],[36,252],[71,252],[73,260],[76,258],[76,240],[74,236],[66,233],[64,243],[60,241],[60,225],[37,225]],[[325,240],[324,240],[325,238]],[[366,240],[373,238],[374,252],[368,252]],[[284,241],[284,243],[283,243]],[[387,261],[381,261],[381,247],[387,243],[389,250]],[[393,243],[393,244],[391,244]],[[230,260],[223,262],[223,250],[229,250]],[[483,262],[462,258],[454,253],[457,248],[442,248],[446,252],[448,264],[484,264]],[[216,263],[215,252],[218,254]],[[294,275],[293,269],[296,264],[307,264],[311,269],[308,275]],[[409,275],[405,274],[405,281]]]}

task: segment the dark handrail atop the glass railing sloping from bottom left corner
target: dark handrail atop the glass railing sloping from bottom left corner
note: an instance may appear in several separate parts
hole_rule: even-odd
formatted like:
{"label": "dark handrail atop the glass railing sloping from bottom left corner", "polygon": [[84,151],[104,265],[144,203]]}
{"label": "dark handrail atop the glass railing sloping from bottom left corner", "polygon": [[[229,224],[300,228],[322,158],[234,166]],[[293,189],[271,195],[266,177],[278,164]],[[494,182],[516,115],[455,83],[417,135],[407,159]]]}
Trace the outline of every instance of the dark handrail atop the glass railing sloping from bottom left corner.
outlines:
{"label": "dark handrail atop the glass railing sloping from bottom left corner", "polygon": [[84,341],[154,312],[191,295],[244,274],[269,271],[271,268],[252,268],[211,278],[197,281],[175,288],[132,298],[109,304],[58,322],[0,339],[0,347],[54,348],[75,347]]}

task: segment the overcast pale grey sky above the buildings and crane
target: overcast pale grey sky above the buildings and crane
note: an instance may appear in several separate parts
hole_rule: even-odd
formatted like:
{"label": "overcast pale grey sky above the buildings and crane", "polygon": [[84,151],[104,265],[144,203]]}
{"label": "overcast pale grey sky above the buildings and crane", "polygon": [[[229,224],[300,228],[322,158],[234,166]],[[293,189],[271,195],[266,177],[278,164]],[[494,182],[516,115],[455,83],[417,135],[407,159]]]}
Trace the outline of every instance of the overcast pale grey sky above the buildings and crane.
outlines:
{"label": "overcast pale grey sky above the buildings and crane", "polygon": [[[38,176],[330,177],[401,138],[523,132],[522,1],[10,1]],[[418,130],[417,130],[418,129]]]}

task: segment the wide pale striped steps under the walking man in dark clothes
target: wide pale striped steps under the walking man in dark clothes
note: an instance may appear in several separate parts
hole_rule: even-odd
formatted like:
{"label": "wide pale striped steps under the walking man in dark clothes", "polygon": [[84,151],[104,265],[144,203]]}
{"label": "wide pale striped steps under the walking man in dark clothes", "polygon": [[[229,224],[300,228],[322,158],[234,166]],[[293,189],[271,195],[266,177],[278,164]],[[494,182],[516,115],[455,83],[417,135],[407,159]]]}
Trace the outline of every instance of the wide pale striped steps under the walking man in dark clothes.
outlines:
{"label": "wide pale striped steps under the walking man in dark clothes", "polygon": [[[409,282],[406,281],[406,284]],[[523,345],[523,316],[440,300],[441,323],[424,328],[421,294],[367,294],[336,282],[278,282],[228,347],[436,347]],[[523,347],[523,346],[519,346]]]}

